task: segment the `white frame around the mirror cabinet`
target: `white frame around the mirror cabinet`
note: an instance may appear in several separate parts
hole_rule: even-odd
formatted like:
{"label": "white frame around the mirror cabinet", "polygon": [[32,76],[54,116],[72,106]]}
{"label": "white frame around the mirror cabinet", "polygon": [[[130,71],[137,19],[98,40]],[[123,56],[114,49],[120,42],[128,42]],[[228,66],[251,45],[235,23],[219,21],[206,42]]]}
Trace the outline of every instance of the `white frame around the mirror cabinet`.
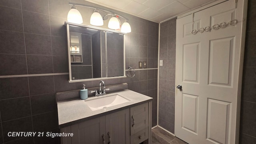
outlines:
{"label": "white frame around the mirror cabinet", "polygon": [[[66,25],[66,30],[67,30],[68,70],[69,70],[69,82],[70,83],[72,83],[72,82],[85,82],[85,81],[92,81],[92,80],[106,80],[106,79],[114,79],[114,78],[126,78],[126,69],[125,69],[125,34],[126,33],[119,32],[119,31],[116,31],[116,30],[110,30],[110,29],[106,29],[106,28],[99,28],[99,27],[96,27],[96,26],[88,26],[88,25],[84,25],[84,24],[75,24],[75,23],[72,23],[72,22],[65,22],[65,25]],[[124,76],[113,76],[113,77],[104,77],[104,78],[89,78],[89,79],[82,79],[82,80],[72,80],[69,25],[80,26],[80,27],[84,27],[84,28],[93,28],[93,29],[97,29],[97,30],[114,32],[114,33],[118,33],[118,34],[124,34]]]}

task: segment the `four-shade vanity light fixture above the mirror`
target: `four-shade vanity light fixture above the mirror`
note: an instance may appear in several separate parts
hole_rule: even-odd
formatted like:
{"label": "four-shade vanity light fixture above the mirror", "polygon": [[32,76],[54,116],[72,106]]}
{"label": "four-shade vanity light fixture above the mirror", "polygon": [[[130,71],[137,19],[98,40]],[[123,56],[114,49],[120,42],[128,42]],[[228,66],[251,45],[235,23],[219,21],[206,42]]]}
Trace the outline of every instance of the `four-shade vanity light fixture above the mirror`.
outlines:
{"label": "four-shade vanity light fixture above the mirror", "polygon": [[[109,15],[112,15],[108,22],[108,28],[114,29],[114,30],[119,30],[121,29],[121,32],[128,33],[131,32],[131,26],[128,23],[128,19],[124,18],[123,16],[120,16],[119,14],[110,12],[108,10],[92,7],[89,5],[85,4],[77,4],[77,3],[72,3],[69,2],[70,5],[73,5],[71,10],[68,12],[68,22],[73,22],[77,24],[82,24],[82,16],[80,12],[77,10],[75,6],[84,6],[88,8],[94,8],[94,12],[90,17],[90,24],[94,26],[102,26],[103,25],[103,20],[107,20]],[[74,12],[76,11],[76,12]],[[104,15],[104,16],[102,16]],[[122,24],[120,28],[120,20],[118,19],[119,17],[123,18],[125,22]]]}

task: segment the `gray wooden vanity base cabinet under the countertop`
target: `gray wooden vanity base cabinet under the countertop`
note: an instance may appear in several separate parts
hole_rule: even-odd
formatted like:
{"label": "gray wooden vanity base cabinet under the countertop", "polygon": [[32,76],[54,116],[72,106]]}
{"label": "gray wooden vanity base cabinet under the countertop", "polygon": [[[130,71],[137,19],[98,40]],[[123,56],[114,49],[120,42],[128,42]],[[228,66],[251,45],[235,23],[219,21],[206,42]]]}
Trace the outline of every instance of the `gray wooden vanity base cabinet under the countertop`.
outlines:
{"label": "gray wooden vanity base cabinet under the countertop", "polygon": [[61,144],[151,144],[151,106],[146,102],[61,128],[60,132],[74,134],[61,137]]}

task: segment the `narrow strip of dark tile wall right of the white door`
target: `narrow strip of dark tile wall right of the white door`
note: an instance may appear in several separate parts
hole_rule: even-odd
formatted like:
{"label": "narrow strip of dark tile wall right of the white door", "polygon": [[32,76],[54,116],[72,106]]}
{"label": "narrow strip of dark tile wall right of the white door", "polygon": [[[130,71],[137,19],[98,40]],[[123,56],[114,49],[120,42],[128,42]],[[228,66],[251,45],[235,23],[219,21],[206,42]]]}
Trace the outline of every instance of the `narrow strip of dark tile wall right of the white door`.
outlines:
{"label": "narrow strip of dark tile wall right of the white door", "polygon": [[256,1],[248,0],[240,144],[256,143]]}

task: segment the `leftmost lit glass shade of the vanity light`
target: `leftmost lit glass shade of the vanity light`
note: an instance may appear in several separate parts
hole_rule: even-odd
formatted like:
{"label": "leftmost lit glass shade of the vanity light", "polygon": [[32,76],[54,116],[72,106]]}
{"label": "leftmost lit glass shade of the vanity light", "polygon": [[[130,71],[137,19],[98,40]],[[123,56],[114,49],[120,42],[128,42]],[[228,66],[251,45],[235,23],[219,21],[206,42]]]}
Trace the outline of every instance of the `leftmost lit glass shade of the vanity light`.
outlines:
{"label": "leftmost lit glass shade of the vanity light", "polygon": [[68,12],[68,22],[73,22],[76,24],[83,23],[82,15],[74,6],[72,6],[71,10]]}

